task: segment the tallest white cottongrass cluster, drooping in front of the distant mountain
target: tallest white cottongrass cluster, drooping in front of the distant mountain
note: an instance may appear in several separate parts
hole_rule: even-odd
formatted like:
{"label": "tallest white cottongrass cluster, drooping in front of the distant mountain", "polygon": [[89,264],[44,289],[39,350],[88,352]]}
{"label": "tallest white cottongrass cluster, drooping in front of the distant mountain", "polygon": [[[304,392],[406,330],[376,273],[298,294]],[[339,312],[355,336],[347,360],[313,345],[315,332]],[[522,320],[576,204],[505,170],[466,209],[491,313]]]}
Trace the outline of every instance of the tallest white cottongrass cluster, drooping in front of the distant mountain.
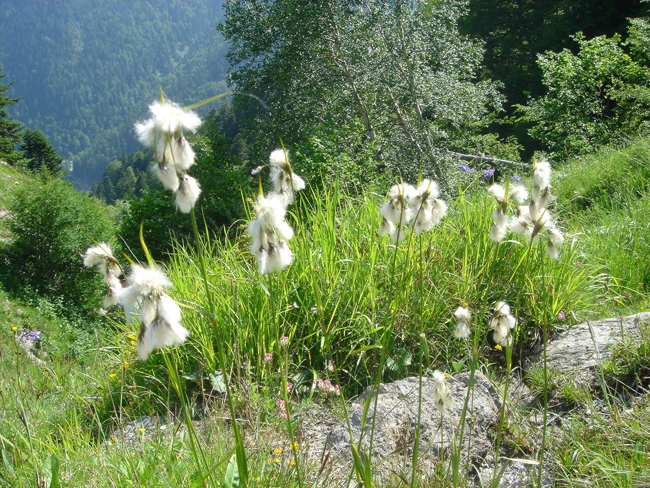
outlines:
{"label": "tallest white cottongrass cluster, drooping in front of the distant mountain", "polygon": [[162,185],[174,192],[176,208],[188,213],[201,194],[195,178],[187,174],[194,165],[194,150],[185,139],[185,132],[196,132],[201,119],[192,111],[184,111],[175,103],[154,102],[149,105],[151,118],[135,124],[142,145],[152,148],[156,158],[153,174]]}

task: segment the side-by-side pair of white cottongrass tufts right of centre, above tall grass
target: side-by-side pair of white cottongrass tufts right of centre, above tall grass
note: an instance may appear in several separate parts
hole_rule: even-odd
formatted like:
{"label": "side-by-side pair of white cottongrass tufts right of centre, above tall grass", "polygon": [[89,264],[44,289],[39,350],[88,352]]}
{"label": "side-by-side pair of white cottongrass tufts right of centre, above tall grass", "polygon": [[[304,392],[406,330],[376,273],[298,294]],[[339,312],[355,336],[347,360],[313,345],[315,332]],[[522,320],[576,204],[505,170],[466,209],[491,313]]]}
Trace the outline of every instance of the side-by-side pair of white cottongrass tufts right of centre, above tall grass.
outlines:
{"label": "side-by-side pair of white cottongrass tufts right of centre, above tall grass", "polygon": [[413,219],[413,232],[419,236],[428,232],[447,215],[447,204],[439,197],[437,183],[422,180],[417,189],[408,183],[393,185],[388,201],[380,209],[383,217],[380,236],[390,236],[394,242],[406,237],[406,225]]}

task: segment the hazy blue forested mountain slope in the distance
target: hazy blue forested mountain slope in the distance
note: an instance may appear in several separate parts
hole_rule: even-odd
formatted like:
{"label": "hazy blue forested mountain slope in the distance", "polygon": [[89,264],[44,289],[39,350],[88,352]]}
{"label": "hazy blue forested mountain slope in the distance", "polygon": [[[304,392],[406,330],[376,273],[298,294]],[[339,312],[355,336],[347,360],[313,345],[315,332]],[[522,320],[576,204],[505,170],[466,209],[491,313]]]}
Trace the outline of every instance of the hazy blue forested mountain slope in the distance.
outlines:
{"label": "hazy blue forested mountain slope in the distance", "polygon": [[0,64],[23,100],[11,115],[42,130],[88,189],[122,152],[161,85],[191,103],[226,89],[222,0],[0,0]]}

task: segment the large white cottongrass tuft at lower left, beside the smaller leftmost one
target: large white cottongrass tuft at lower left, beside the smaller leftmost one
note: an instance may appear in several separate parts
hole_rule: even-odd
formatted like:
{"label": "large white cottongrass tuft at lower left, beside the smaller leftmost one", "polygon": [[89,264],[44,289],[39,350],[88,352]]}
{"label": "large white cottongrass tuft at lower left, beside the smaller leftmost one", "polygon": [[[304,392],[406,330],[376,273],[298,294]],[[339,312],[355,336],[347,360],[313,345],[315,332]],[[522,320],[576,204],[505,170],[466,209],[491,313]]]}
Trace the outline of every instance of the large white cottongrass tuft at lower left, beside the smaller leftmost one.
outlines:
{"label": "large white cottongrass tuft at lower left, beside the smaller leftmost one", "polygon": [[163,291],[172,286],[164,273],[153,266],[133,265],[127,284],[119,299],[127,316],[131,316],[139,306],[140,359],[146,360],[153,349],[183,344],[189,332],[181,325],[181,309]]}

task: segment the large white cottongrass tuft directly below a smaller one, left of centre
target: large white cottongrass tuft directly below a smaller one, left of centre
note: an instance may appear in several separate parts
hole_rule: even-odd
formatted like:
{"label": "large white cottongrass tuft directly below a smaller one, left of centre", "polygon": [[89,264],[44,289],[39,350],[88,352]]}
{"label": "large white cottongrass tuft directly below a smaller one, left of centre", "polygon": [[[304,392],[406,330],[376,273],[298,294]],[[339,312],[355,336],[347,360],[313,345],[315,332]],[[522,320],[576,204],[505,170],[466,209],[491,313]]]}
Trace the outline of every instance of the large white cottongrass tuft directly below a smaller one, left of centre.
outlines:
{"label": "large white cottongrass tuft directly below a smaller one, left of centre", "polygon": [[255,219],[248,224],[248,233],[253,237],[250,251],[257,256],[257,269],[263,275],[283,269],[293,260],[287,245],[293,230],[284,220],[286,212],[287,203],[277,193],[257,197]]}

